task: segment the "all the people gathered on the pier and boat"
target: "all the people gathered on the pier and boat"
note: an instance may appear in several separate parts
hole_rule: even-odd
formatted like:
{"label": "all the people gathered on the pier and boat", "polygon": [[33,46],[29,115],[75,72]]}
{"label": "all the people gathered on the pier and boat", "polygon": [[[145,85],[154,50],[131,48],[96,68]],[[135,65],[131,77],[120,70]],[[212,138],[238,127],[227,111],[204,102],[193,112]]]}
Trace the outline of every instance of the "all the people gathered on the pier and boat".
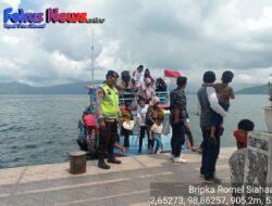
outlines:
{"label": "all the people gathered on the pier and boat", "polygon": [[[129,147],[129,136],[133,129],[131,125],[134,120],[132,111],[137,111],[136,121],[139,126],[139,149],[141,153],[143,140],[147,136],[148,150],[150,153],[163,151],[161,134],[163,131],[164,110],[160,107],[160,99],[156,96],[157,91],[166,92],[166,83],[163,79],[154,80],[148,68],[139,65],[131,77],[128,70],[120,75],[114,70],[109,70],[106,81],[97,91],[97,121],[96,132],[98,138],[98,167],[110,169],[109,164],[121,164],[113,155],[114,146],[121,150]],[[202,131],[202,159],[200,175],[206,182],[214,182],[217,178],[215,164],[220,153],[220,137],[223,134],[223,118],[226,117],[230,107],[230,100],[233,100],[234,92],[230,83],[234,74],[225,70],[222,74],[221,82],[215,82],[215,74],[208,70],[203,74],[203,82],[198,90],[198,114],[200,128]],[[173,163],[187,163],[182,155],[182,146],[185,143],[185,133],[190,131],[189,116],[186,108],[187,100],[185,88],[187,78],[180,76],[176,78],[176,88],[170,92],[170,125],[172,128],[171,138],[171,159]],[[123,92],[125,108],[120,110],[120,93]],[[137,106],[129,100],[129,95],[137,93]],[[87,120],[85,120],[87,121]],[[124,136],[123,146],[118,143],[119,124],[121,121],[121,136]],[[92,126],[95,120],[92,123]],[[90,124],[91,125],[91,124]],[[246,125],[246,126],[245,126]],[[249,125],[249,126],[248,126]],[[242,120],[238,130],[234,133],[237,145],[245,146],[247,132],[254,129],[252,121]],[[106,163],[108,158],[108,163]]]}

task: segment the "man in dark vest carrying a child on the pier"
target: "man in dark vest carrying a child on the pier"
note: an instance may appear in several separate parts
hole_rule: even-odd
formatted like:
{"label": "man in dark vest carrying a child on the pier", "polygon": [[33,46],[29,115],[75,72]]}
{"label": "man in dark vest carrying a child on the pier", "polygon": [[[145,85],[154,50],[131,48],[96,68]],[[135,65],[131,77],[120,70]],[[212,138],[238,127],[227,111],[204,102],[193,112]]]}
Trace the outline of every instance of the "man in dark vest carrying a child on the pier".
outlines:
{"label": "man in dark vest carrying a child on the pier", "polygon": [[198,90],[198,102],[200,113],[200,127],[202,131],[202,160],[200,175],[203,176],[206,183],[219,181],[214,177],[217,159],[220,153],[220,132],[215,128],[215,137],[211,137],[211,126],[213,123],[213,111],[222,117],[226,116],[225,110],[220,106],[215,89],[212,83],[215,81],[215,74],[211,70],[203,74],[203,85]]}

